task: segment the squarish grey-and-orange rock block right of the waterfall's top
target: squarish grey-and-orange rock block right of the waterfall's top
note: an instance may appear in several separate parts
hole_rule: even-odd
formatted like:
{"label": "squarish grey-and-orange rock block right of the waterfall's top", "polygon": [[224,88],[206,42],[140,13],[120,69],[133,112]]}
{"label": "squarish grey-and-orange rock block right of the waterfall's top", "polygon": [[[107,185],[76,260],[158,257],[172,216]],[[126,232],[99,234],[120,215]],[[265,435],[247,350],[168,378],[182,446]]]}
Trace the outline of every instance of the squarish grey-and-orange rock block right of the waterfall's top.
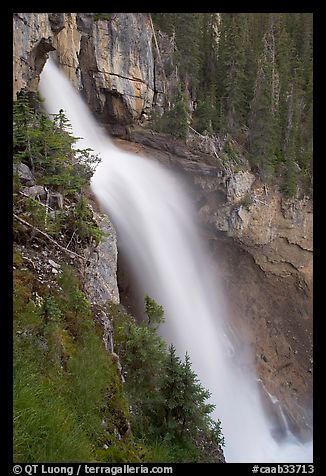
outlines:
{"label": "squarish grey-and-orange rock block right of the waterfall's top", "polygon": [[87,102],[102,120],[127,124],[150,111],[154,60],[147,14],[115,13],[94,22],[82,37],[79,61]]}

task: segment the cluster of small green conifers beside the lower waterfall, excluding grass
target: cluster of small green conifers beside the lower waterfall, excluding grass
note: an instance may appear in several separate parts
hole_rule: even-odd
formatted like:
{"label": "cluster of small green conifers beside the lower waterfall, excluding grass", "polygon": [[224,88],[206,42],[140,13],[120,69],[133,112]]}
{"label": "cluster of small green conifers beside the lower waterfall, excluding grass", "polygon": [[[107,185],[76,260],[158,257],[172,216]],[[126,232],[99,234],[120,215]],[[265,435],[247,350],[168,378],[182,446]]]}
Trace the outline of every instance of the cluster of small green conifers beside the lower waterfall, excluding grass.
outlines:
{"label": "cluster of small green conifers beside the lower waterfall, excluding grass", "polygon": [[[145,307],[163,317],[162,308],[148,296]],[[160,461],[212,460],[205,448],[216,450],[224,444],[220,422],[210,417],[214,405],[207,403],[210,394],[193,372],[189,356],[182,362],[173,345],[167,348],[152,321],[136,324],[122,306],[112,303],[109,314],[137,440]]]}

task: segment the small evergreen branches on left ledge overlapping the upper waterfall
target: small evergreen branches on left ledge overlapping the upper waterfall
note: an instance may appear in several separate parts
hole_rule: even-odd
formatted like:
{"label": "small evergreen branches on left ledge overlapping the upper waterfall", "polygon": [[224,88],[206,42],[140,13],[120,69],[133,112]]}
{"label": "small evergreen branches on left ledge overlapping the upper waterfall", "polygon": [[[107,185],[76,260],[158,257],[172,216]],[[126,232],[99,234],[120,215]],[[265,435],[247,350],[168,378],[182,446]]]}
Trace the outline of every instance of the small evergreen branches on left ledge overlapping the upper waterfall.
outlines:
{"label": "small evergreen branches on left ledge overlapping the upper waterfall", "polygon": [[61,109],[51,120],[30,106],[27,93],[14,102],[14,160],[30,165],[37,182],[52,186],[63,195],[80,192],[89,182],[99,158],[90,149],[74,147],[78,138],[71,135],[70,124]]}

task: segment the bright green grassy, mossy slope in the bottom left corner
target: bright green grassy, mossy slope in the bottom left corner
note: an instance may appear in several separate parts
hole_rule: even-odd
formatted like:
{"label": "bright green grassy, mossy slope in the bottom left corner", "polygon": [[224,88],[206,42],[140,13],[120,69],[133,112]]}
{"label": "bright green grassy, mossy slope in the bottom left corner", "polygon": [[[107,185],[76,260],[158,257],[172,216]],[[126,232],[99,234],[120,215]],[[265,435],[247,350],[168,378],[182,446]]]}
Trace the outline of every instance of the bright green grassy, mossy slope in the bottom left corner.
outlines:
{"label": "bright green grassy, mossy slope in the bottom left corner", "polygon": [[128,461],[132,451],[139,462],[132,437],[117,436],[127,428],[122,383],[78,278],[66,267],[58,287],[42,286],[15,270],[15,462]]}

